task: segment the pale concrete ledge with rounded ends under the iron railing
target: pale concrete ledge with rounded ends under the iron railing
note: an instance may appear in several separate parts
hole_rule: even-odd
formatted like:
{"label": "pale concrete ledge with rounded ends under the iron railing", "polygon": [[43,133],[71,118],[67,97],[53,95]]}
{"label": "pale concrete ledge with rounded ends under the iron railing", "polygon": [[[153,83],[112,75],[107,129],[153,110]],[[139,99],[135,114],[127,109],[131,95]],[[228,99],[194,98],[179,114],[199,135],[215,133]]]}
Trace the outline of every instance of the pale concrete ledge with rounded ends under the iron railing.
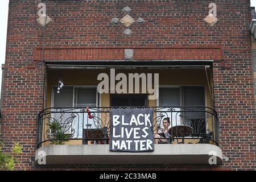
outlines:
{"label": "pale concrete ledge with rounded ends under the iron railing", "polygon": [[52,145],[36,151],[36,164],[43,155],[46,165],[209,164],[211,156],[216,157],[217,164],[222,163],[221,148],[213,144],[155,144],[154,152],[112,152],[108,144]]}

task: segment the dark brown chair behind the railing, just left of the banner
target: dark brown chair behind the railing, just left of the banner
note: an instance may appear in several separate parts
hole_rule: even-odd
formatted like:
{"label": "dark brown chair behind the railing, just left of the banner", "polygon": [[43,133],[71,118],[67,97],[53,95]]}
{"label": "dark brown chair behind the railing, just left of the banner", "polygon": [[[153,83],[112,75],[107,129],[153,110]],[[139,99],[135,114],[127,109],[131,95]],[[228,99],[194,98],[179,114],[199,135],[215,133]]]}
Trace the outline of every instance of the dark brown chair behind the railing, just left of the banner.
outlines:
{"label": "dark brown chair behind the railing, just left of the banner", "polygon": [[88,141],[104,141],[107,144],[108,140],[108,128],[103,127],[102,129],[83,129],[82,130],[82,144],[88,144]]}

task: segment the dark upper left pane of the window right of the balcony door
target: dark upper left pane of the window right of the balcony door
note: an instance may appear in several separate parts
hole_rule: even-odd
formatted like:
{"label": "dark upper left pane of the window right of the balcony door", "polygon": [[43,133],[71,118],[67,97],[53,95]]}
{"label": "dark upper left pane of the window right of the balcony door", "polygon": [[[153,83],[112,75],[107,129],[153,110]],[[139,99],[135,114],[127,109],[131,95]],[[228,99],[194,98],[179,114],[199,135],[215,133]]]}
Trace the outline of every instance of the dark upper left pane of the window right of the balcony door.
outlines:
{"label": "dark upper left pane of the window right of the balcony door", "polygon": [[180,106],[180,88],[160,88],[160,106]]}

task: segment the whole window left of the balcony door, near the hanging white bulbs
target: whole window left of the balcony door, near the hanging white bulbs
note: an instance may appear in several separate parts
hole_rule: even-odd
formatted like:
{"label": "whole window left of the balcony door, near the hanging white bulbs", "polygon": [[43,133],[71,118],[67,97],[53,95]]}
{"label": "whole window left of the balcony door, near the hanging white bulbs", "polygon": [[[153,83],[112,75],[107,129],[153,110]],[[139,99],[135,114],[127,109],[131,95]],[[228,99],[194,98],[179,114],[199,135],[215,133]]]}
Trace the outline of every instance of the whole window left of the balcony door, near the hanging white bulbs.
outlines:
{"label": "whole window left of the balcony door, near the hanging white bulbs", "polygon": [[[98,94],[96,86],[65,86],[59,94],[56,93],[57,87],[53,87],[53,107],[97,107]],[[75,130],[74,138],[82,137],[82,129],[90,127],[95,129],[100,123],[96,124],[87,113],[79,113],[81,109],[70,110],[69,113],[55,113],[54,118],[60,122],[70,121],[72,112],[76,117],[72,120],[72,129]],[[97,114],[96,114],[97,117]],[[71,130],[71,129],[70,129]]]}

